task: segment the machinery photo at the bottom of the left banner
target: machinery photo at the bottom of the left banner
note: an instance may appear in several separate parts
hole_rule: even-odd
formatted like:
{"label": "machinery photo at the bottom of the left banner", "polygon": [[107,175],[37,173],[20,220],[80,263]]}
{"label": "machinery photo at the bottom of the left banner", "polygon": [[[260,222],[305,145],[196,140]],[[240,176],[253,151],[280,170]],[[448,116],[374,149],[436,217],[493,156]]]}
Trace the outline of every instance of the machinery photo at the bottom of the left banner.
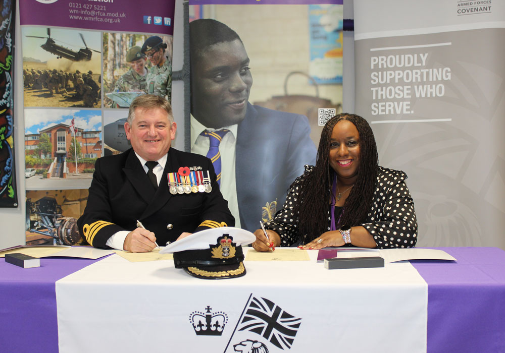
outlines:
{"label": "machinery photo at the bottom of the left banner", "polygon": [[26,191],[26,245],[79,245],[87,189]]}

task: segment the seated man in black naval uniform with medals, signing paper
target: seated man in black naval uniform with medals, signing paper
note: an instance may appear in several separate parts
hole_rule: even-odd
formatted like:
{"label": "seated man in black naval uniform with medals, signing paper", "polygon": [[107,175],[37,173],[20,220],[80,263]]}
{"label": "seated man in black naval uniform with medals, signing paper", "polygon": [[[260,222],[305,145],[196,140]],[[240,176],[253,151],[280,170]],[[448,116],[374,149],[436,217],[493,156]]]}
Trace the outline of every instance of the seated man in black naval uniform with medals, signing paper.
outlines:
{"label": "seated man in black naval uniform with medals, signing paper", "polygon": [[195,231],[235,225],[211,160],[171,148],[176,129],[163,97],[132,101],[125,123],[132,148],[96,160],[77,221],[90,245],[147,252]]}

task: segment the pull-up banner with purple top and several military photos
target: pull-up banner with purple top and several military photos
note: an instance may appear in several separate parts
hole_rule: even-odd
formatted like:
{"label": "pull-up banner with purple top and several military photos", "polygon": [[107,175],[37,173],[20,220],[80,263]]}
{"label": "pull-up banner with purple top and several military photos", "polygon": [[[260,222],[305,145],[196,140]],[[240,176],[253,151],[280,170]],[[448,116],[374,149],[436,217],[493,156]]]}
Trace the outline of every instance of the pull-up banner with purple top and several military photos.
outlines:
{"label": "pull-up banner with purple top and several military photos", "polygon": [[28,245],[80,240],[72,224],[86,205],[96,158],[131,147],[124,131],[131,100],[171,99],[174,5],[19,2]]}

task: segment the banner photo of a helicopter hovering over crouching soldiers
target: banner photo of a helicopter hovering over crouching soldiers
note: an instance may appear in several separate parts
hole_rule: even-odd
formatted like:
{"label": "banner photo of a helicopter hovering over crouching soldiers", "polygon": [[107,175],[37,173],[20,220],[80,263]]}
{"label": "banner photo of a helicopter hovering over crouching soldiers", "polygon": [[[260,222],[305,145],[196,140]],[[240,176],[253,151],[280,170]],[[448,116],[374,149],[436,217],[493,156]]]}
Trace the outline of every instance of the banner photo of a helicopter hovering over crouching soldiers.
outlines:
{"label": "banner photo of a helicopter hovering over crouching soldiers", "polygon": [[25,106],[102,106],[99,32],[23,27],[22,48]]}

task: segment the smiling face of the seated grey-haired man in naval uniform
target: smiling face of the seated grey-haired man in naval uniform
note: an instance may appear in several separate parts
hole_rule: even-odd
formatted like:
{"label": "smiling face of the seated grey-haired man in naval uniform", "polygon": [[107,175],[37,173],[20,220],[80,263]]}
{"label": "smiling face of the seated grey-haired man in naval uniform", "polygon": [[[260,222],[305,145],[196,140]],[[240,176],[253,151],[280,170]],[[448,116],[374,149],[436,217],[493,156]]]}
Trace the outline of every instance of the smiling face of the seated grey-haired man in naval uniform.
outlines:
{"label": "smiling face of the seated grey-haired man in naval uniform", "polygon": [[175,139],[177,126],[162,108],[136,108],[130,124],[125,123],[126,137],[133,150],[146,161],[163,157]]}

